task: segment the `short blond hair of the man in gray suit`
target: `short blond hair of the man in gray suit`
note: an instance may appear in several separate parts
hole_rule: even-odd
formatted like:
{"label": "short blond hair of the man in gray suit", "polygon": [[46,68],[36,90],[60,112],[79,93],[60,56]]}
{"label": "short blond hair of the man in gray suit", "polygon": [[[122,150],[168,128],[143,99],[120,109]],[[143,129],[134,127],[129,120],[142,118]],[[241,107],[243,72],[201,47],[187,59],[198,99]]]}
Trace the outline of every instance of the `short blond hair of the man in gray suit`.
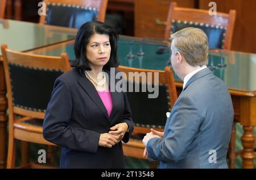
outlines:
{"label": "short blond hair of the man in gray suit", "polygon": [[[175,41],[173,41],[175,39]],[[191,66],[208,63],[208,37],[199,28],[187,27],[171,35],[174,51],[179,51]]]}

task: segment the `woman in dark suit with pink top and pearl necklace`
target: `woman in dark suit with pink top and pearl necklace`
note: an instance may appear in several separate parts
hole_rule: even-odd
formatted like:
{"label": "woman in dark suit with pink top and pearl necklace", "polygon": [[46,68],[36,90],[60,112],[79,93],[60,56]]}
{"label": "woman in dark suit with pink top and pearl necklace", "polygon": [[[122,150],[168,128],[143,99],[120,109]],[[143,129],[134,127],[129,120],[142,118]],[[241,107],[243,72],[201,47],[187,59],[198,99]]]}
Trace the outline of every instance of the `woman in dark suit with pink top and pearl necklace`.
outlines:
{"label": "woman in dark suit with pink top and pearl necklace", "polygon": [[104,23],[83,24],[73,69],[55,81],[43,136],[61,146],[60,168],[125,168],[121,141],[127,143],[134,123],[126,94],[110,91],[117,40]]}

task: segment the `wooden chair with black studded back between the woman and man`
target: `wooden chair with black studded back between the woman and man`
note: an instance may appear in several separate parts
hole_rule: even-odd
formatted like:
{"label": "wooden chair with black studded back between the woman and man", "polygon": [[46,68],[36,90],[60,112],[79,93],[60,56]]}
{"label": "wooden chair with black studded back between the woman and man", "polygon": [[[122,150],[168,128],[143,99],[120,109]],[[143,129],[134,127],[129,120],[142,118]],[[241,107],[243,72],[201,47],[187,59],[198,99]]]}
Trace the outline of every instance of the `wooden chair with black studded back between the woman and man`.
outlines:
{"label": "wooden chair with black studded back between the woman and man", "polygon": [[[174,74],[171,67],[166,67],[165,70],[149,70],[149,69],[137,69],[126,66],[118,66],[120,72],[126,74],[129,77],[129,73],[138,72],[139,74],[145,73],[146,79],[126,79],[127,89],[129,86],[139,86],[140,92],[129,92],[127,90],[127,98],[131,106],[131,112],[133,115],[133,121],[135,123],[133,135],[129,140],[129,143],[123,144],[123,152],[125,156],[143,158],[144,145],[142,139],[147,132],[150,132],[150,128],[154,128],[158,131],[164,129],[166,123],[166,112],[170,112],[172,106],[177,99],[176,86],[174,81]],[[142,92],[142,85],[146,87],[150,85],[147,82],[155,82],[154,73],[159,74],[159,83],[154,83],[155,86],[159,85],[159,95],[157,98],[148,98],[148,94],[151,94],[148,90]],[[148,81],[148,77],[152,77],[152,81]],[[151,164],[151,168],[156,168],[155,164]]]}

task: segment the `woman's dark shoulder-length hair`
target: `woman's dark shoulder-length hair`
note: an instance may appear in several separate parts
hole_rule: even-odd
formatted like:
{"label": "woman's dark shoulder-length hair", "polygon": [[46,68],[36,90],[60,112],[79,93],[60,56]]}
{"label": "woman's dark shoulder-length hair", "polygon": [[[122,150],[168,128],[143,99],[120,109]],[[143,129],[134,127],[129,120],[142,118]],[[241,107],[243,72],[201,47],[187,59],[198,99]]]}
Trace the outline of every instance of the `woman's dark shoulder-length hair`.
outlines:
{"label": "woman's dark shoulder-length hair", "polygon": [[103,70],[110,70],[110,68],[116,68],[119,63],[117,60],[117,41],[118,34],[114,28],[99,22],[90,21],[82,24],[76,35],[76,41],[74,45],[74,51],[76,60],[69,61],[72,67],[79,70],[92,70],[89,66],[89,61],[86,58],[86,46],[88,45],[90,38],[94,34],[108,35],[111,45],[110,58],[107,64],[103,66]]}

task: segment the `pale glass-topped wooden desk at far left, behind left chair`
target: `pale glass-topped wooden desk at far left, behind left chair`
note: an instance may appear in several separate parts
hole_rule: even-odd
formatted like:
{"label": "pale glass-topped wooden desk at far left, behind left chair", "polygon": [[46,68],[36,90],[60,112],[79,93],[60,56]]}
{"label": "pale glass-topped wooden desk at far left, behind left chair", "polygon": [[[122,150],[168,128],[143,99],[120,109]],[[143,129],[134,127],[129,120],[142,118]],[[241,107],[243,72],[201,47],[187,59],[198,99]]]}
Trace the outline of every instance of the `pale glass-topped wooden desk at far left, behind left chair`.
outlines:
{"label": "pale glass-topped wooden desk at far left, behind left chair", "polygon": [[[16,51],[26,52],[72,40],[75,39],[76,32],[71,28],[0,19],[0,44],[7,44]],[[6,84],[0,51],[0,168],[6,166],[6,110]]]}

